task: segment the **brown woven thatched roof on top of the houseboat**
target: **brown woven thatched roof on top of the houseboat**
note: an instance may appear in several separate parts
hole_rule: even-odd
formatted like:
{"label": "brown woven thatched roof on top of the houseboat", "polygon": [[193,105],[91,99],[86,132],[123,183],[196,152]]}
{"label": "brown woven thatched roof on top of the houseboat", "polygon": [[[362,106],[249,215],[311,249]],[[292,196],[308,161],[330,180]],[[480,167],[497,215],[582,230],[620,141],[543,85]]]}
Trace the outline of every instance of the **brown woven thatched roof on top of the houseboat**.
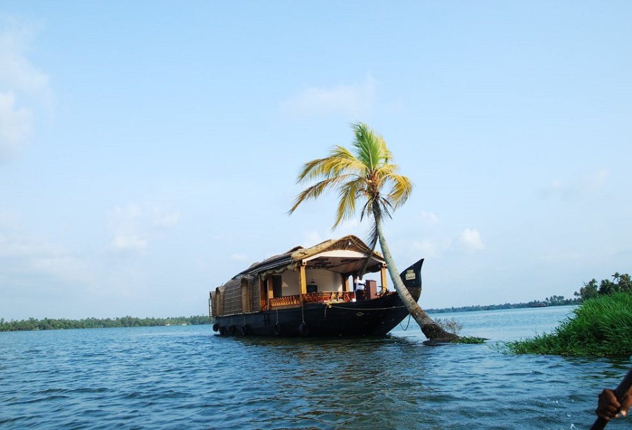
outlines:
{"label": "brown woven thatched roof on top of the houseboat", "polygon": [[[358,239],[358,237],[348,235],[345,237],[341,237],[340,239],[329,239],[320,242],[320,244],[314,245],[310,248],[296,246],[281,255],[274,255],[274,257],[270,257],[268,259],[265,259],[264,261],[261,261],[261,263],[252,264],[252,266],[250,266],[248,269],[243,270],[243,272],[239,272],[237,275],[235,275],[235,278],[243,275],[259,275],[261,277],[268,277],[268,275],[270,275],[271,273],[279,273],[285,270],[295,270],[300,261],[310,259],[311,257],[315,257],[319,254],[323,254],[329,251],[354,251],[362,254],[363,257],[367,257],[370,255],[370,268],[373,268],[376,265],[381,267],[384,261],[384,258],[382,257],[382,255],[380,255],[379,252],[371,252],[371,248],[364,244],[362,240]],[[364,259],[356,257],[353,260],[358,261],[358,264],[356,264],[355,266],[361,266],[360,261],[363,261]],[[340,258],[340,261],[343,260]],[[349,261],[347,261],[347,263],[348,262]],[[373,270],[371,270],[370,268],[368,271],[375,270],[374,268]],[[342,272],[342,270],[342,268],[339,268],[336,271]],[[347,267],[346,270],[349,270],[349,268]]]}

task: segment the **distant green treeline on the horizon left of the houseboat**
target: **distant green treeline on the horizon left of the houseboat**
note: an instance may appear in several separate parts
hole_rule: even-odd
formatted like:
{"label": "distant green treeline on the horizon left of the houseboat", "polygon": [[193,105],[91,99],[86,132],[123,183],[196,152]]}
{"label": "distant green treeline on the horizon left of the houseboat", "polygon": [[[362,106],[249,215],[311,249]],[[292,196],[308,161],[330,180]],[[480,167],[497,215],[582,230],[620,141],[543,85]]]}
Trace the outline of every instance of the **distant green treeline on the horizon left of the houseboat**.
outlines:
{"label": "distant green treeline on the horizon left of the houseboat", "polygon": [[28,330],[65,330],[73,328],[109,328],[109,327],[156,327],[164,325],[200,325],[210,324],[210,316],[176,316],[168,318],[88,318],[88,319],[26,319],[4,321],[0,318],[0,332],[18,332]]}

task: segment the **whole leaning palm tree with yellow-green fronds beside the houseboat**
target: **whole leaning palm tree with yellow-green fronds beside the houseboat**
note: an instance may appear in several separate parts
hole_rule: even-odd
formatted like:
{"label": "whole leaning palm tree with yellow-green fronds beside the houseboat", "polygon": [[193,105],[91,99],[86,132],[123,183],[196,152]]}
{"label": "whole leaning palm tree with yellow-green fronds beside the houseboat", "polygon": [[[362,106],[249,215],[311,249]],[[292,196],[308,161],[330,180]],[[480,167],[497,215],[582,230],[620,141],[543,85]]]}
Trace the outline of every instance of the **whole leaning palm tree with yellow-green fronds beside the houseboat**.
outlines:
{"label": "whole leaning palm tree with yellow-green fronds beside the houseboat", "polygon": [[[399,167],[390,162],[393,154],[386,147],[382,136],[361,122],[356,122],[351,128],[355,134],[353,151],[335,146],[327,157],[304,164],[297,182],[317,182],[296,196],[290,214],[306,200],[316,199],[325,191],[337,189],[340,202],[336,222],[332,227],[334,230],[340,222],[353,217],[356,214],[356,204],[358,201],[362,202],[360,220],[366,216],[372,223],[369,239],[371,248],[375,249],[378,241],[380,242],[391,281],[408,312],[431,341],[455,340],[458,336],[446,332],[435,323],[404,287],[382,231],[384,218],[391,217],[391,211],[395,211],[408,200],[413,191],[413,183],[406,176],[397,173]],[[364,273],[359,275],[362,277]]]}

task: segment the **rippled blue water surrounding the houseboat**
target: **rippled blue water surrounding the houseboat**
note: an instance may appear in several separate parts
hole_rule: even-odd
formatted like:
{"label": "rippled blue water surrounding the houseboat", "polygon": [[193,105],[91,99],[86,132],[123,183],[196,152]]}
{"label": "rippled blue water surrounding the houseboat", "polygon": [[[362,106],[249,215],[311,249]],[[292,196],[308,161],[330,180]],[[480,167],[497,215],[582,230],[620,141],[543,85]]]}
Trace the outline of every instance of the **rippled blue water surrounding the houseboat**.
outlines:
{"label": "rippled blue water surrounding the houseboat", "polygon": [[208,325],[0,333],[0,429],[589,429],[598,392],[629,362],[494,346],[569,312],[436,314],[490,338],[440,347],[414,321],[359,340],[220,337]]}

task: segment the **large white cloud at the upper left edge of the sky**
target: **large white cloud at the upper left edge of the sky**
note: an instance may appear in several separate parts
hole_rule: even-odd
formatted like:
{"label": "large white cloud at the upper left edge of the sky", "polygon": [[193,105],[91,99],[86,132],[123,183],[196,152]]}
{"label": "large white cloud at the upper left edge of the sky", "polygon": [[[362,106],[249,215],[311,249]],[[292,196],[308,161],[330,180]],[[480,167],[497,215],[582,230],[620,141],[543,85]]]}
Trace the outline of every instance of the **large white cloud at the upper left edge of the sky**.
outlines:
{"label": "large white cloud at the upper left edge of the sky", "polygon": [[19,152],[34,132],[36,111],[52,111],[48,76],[26,57],[34,29],[0,15],[0,161]]}

